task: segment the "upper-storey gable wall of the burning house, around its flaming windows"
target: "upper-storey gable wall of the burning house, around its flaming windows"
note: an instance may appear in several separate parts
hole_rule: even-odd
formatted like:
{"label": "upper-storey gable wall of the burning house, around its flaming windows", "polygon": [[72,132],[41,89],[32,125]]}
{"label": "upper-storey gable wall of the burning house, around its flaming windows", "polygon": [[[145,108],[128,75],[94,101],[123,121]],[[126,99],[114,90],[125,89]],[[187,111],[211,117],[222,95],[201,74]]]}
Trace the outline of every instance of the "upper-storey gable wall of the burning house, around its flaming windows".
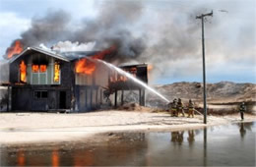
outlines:
{"label": "upper-storey gable wall of the burning house, around its flaming windows", "polygon": [[[71,86],[73,81],[73,69],[70,62],[58,60],[51,56],[41,53],[31,53],[23,55],[10,64],[10,83],[20,83],[20,63],[25,61],[27,65],[27,83],[28,84],[61,84],[62,86]],[[60,82],[54,82],[54,63],[60,64]],[[47,70],[45,73],[32,73],[33,64],[45,64]]]}

